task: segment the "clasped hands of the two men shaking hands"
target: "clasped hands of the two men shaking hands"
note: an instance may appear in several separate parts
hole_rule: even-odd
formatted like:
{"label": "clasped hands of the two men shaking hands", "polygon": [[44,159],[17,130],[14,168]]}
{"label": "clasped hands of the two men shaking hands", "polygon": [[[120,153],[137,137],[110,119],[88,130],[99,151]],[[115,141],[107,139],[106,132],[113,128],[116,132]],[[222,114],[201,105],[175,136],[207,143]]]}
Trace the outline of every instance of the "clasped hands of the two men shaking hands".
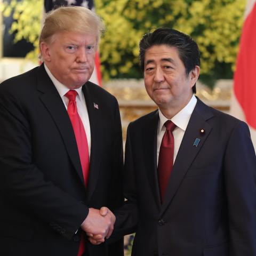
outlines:
{"label": "clasped hands of the two men shaking hands", "polygon": [[89,241],[98,245],[111,236],[115,221],[115,215],[107,207],[101,207],[100,210],[90,208],[81,228],[85,231]]}

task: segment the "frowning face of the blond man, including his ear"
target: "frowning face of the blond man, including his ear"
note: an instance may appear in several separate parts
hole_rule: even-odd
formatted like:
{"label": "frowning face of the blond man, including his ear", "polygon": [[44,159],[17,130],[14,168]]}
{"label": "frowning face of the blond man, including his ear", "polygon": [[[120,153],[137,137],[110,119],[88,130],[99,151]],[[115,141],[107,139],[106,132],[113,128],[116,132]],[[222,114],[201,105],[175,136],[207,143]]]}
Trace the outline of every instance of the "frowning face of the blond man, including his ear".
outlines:
{"label": "frowning face of the blond man, including his ear", "polygon": [[96,35],[62,32],[41,43],[44,62],[52,75],[70,89],[86,83],[93,72]]}

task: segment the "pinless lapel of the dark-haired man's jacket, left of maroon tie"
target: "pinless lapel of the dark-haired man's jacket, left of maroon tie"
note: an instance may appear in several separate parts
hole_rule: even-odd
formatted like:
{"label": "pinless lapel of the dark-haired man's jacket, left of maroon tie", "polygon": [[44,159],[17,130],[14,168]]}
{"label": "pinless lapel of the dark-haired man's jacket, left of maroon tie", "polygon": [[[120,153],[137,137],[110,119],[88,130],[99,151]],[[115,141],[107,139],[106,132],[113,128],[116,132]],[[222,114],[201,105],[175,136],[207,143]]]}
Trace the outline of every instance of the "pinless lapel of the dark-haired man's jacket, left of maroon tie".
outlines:
{"label": "pinless lapel of the dark-haired man's jacket, left of maroon tie", "polygon": [[161,205],[158,178],[157,178],[157,166],[156,166],[156,138],[158,127],[158,111],[156,110],[153,115],[148,119],[148,122],[144,123],[143,127],[143,153],[144,163],[146,165],[146,172],[149,180],[153,195],[155,197],[158,209]]}

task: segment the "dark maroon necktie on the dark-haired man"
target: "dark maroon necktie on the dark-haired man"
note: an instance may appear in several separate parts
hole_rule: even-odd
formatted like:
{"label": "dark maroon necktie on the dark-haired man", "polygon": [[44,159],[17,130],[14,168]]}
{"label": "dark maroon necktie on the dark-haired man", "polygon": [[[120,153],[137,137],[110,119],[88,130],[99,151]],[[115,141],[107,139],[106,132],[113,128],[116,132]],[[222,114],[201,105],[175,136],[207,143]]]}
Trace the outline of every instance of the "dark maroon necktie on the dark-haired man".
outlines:
{"label": "dark maroon necktie on the dark-haired man", "polygon": [[160,146],[157,167],[162,202],[173,166],[174,137],[172,132],[176,127],[176,125],[170,120],[166,121],[164,125],[166,127],[166,131]]}

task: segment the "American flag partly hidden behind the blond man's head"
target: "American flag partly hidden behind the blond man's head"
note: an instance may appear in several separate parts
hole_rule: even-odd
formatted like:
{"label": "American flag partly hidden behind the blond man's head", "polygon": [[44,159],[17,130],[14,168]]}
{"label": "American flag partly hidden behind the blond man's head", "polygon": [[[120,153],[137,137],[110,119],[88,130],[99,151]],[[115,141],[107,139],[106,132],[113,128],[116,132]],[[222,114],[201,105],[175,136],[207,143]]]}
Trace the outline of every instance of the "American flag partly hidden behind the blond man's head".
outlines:
{"label": "American flag partly hidden behind the blond man's head", "polygon": [[[92,11],[94,10],[93,0],[44,0],[45,12],[49,12],[52,9],[67,5],[83,6],[89,8]],[[95,55],[95,68],[93,70],[90,81],[102,86],[100,73],[100,58],[98,52]]]}

